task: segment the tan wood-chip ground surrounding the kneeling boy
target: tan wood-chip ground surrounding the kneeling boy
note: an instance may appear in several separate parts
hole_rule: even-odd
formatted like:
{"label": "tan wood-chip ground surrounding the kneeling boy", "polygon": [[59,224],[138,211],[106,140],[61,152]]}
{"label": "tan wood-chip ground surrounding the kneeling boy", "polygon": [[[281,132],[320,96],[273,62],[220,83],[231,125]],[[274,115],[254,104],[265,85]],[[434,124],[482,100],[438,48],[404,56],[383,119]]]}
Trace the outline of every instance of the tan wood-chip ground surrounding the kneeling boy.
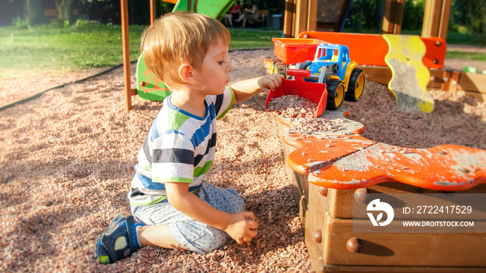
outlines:
{"label": "tan wood-chip ground surrounding the kneeling boy", "polygon": [[[232,82],[261,76],[263,60],[271,57],[271,49],[232,51]],[[435,112],[412,116],[394,109],[385,86],[369,82],[364,92],[360,102],[344,107],[367,127],[362,135],[369,139],[486,148],[486,107],[474,98],[435,92]],[[219,121],[207,179],[242,195],[259,218],[258,236],[206,255],[145,247],[112,265],[94,261],[94,240],[117,213],[130,213],[126,193],[135,156],[161,103],[134,97],[127,112],[117,69],[1,111],[0,271],[310,271],[276,118],[265,111],[265,98],[260,93],[235,105]]]}

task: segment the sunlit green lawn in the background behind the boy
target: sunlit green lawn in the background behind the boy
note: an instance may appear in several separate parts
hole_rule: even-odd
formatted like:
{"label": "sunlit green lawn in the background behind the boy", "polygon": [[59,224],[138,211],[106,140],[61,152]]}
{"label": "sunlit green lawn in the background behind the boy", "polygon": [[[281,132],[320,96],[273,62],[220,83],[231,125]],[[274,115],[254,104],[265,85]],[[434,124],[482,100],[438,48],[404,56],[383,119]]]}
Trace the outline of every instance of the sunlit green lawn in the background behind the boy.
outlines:
{"label": "sunlit green lawn in the background behind the boy", "polygon": [[[145,26],[130,26],[130,58],[140,55],[140,35]],[[271,37],[281,32],[231,29],[231,49],[273,46]],[[34,28],[0,28],[0,69],[75,70],[112,67],[121,63],[121,26],[85,24],[69,28],[49,25]]]}

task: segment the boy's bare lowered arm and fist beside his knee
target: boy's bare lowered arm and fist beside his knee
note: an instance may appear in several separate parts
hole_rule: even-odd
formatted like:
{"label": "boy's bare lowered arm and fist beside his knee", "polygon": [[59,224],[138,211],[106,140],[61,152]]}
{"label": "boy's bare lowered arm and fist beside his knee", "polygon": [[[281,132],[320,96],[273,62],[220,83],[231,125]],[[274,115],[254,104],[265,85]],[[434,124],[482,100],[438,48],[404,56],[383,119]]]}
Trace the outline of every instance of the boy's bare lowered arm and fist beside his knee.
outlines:
{"label": "boy's bare lowered arm and fist beside his knee", "polygon": [[230,214],[219,211],[188,190],[189,185],[186,183],[165,183],[169,204],[190,218],[226,231],[238,244],[249,242],[256,236],[258,222],[252,212],[242,211]]}

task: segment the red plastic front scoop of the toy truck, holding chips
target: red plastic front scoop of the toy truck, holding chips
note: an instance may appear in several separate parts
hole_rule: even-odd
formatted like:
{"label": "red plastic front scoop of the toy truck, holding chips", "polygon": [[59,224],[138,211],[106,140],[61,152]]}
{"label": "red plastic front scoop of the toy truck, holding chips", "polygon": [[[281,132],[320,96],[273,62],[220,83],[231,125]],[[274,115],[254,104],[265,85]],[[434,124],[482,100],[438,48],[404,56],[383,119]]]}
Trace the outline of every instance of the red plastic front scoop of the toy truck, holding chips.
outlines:
{"label": "red plastic front scoop of the toy truck, holding chips", "polygon": [[278,98],[287,95],[297,95],[302,98],[307,98],[312,103],[317,104],[315,117],[320,116],[326,110],[328,91],[325,83],[306,82],[304,78],[310,77],[309,70],[302,69],[287,69],[288,76],[294,76],[294,80],[282,80],[282,85],[274,91],[269,91],[267,99],[265,100],[265,109],[268,108],[268,103],[272,98]]}

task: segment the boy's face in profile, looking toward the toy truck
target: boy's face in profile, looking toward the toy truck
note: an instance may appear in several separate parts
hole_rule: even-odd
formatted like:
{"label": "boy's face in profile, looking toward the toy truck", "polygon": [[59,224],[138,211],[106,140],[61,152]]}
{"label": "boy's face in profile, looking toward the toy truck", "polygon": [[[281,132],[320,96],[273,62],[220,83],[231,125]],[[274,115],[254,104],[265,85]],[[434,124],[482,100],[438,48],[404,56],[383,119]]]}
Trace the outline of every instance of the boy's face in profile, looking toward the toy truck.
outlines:
{"label": "boy's face in profile, looking toward the toy truck", "polygon": [[203,63],[195,69],[194,76],[201,91],[206,95],[219,95],[231,79],[233,69],[228,62],[228,45],[219,41],[209,47]]}

